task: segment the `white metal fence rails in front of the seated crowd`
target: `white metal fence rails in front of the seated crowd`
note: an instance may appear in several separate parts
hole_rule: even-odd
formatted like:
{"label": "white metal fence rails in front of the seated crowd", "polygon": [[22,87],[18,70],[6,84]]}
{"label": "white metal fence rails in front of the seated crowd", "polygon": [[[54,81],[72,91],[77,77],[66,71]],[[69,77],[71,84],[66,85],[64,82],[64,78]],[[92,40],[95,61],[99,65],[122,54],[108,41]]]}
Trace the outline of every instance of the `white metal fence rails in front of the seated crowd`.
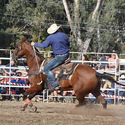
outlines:
{"label": "white metal fence rails in front of the seated crowd", "polygon": [[[6,53],[8,53],[7,54],[7,57],[3,57],[2,55],[0,56],[0,59],[1,60],[4,60],[4,61],[7,61],[7,62],[9,62],[10,63],[10,61],[12,60],[12,51],[13,50],[7,50],[7,49],[0,49],[0,51],[2,51],[2,53],[3,52],[5,52],[5,54]],[[45,51],[41,51],[41,54],[43,54],[44,55],[44,57],[50,57],[51,56],[51,51],[49,51],[49,52],[45,52]],[[5,55],[5,54],[3,54],[3,55]],[[95,52],[88,52],[88,53],[86,53],[87,55],[90,55],[91,57],[94,55],[96,55],[97,57],[101,57],[101,56],[104,56],[104,54],[109,54],[109,55],[111,55],[112,53],[95,53]],[[116,54],[117,55],[117,54]],[[91,64],[91,63],[97,63],[97,64],[100,64],[100,63],[107,63],[107,62],[104,62],[104,61],[83,61],[83,58],[82,58],[82,56],[83,56],[83,53],[81,53],[81,52],[70,52],[70,57],[71,57],[71,61],[72,62],[77,62],[77,63],[87,63],[87,64]],[[77,59],[77,57],[81,57],[80,59]],[[21,59],[19,59],[19,60],[25,60],[25,58],[21,58]],[[4,62],[5,63],[5,62]],[[112,63],[114,63],[115,65],[116,65],[116,62],[112,62]],[[122,65],[125,65],[125,63],[123,63],[122,62]],[[120,64],[119,64],[120,65]],[[0,88],[1,87],[5,87],[5,88],[9,88],[9,93],[8,94],[1,94],[1,95],[12,95],[12,93],[11,93],[11,88],[13,87],[17,87],[17,88],[29,88],[30,86],[23,86],[23,85],[13,85],[12,83],[11,83],[11,79],[12,78],[28,78],[28,77],[17,77],[17,76],[11,76],[11,70],[12,69],[28,69],[28,67],[27,66],[17,66],[17,67],[6,67],[6,64],[4,64],[4,65],[1,65],[0,66],[0,69],[10,69],[10,74],[9,74],[9,76],[3,76],[3,75],[1,75],[0,76],[0,78],[9,78],[9,81],[8,81],[8,83],[7,84],[4,84],[4,83],[2,83],[1,84],[1,82],[0,82]],[[116,69],[114,70],[114,71],[108,71],[108,73],[114,73],[114,75],[115,75],[115,77],[116,77],[116,74],[117,74],[117,72],[116,72]],[[121,71],[120,70],[120,72],[119,72],[119,74],[120,73],[123,73],[123,71]],[[108,91],[109,89],[105,89],[106,91]],[[124,90],[124,89],[123,89]],[[116,85],[115,85],[115,88],[114,89],[110,89],[110,91],[114,91],[114,93],[115,93],[115,96],[117,96],[116,95]],[[120,90],[119,90],[120,91]],[[114,99],[114,103],[116,103],[116,97],[105,97],[106,99]],[[43,101],[48,101],[48,98],[54,98],[54,97],[56,97],[56,96],[49,96],[49,94],[48,94],[48,91],[43,91],[43,94],[42,94],[42,97],[43,97]],[[62,97],[62,96],[57,96],[57,97]],[[66,97],[66,98],[75,98],[75,96],[63,96],[63,97]],[[86,98],[93,98],[93,97],[86,97]]]}

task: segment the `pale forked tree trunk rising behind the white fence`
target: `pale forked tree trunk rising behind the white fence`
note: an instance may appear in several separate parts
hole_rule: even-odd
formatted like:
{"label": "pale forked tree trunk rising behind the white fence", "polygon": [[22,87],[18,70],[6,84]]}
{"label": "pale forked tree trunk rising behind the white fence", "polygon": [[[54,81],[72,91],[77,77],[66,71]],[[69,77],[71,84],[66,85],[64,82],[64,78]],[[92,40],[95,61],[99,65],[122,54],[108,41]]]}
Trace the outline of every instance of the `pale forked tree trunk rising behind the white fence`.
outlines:
{"label": "pale forked tree trunk rising behind the white fence", "polygon": [[75,26],[73,26],[73,21],[72,21],[71,16],[70,16],[67,1],[63,0],[63,5],[64,5],[64,9],[65,9],[65,12],[67,15],[68,23],[69,23],[71,31],[75,37],[78,51],[83,52],[83,54],[85,54],[87,52],[87,50],[89,48],[89,44],[92,40],[93,34],[96,31],[94,27],[98,23],[99,12],[100,12],[101,7],[103,5],[103,1],[104,0],[97,0],[97,4],[95,7],[95,10],[93,11],[92,19],[91,19],[91,23],[94,24],[94,26],[90,28],[90,30],[88,31],[88,37],[85,40],[85,42],[83,42],[81,39],[81,32],[80,32],[79,0],[74,0],[74,17],[75,17],[74,24],[75,24]]}

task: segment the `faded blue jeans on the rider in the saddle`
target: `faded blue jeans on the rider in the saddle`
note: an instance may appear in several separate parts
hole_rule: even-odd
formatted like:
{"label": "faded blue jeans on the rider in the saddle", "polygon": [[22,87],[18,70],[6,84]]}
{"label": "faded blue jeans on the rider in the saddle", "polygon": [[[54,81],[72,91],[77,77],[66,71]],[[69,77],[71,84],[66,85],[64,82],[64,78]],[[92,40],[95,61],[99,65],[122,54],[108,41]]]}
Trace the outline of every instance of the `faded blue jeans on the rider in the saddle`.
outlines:
{"label": "faded blue jeans on the rider in the saddle", "polygon": [[62,64],[66,59],[68,59],[69,54],[64,55],[56,55],[50,62],[48,62],[44,67],[44,72],[48,78],[48,82],[52,85],[52,87],[58,86],[58,82],[55,79],[55,75],[51,71],[58,65]]}

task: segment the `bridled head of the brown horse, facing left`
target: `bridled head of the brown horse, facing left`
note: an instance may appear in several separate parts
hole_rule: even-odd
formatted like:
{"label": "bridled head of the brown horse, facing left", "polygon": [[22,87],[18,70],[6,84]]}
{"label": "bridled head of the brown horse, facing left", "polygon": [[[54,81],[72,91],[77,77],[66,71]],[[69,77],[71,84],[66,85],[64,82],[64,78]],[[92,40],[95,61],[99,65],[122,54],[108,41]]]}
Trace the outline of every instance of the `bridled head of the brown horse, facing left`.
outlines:
{"label": "bridled head of the brown horse, facing left", "polygon": [[23,37],[22,40],[17,44],[17,47],[15,48],[13,55],[12,55],[12,59],[17,62],[18,58],[23,57],[24,55],[26,55],[26,37]]}

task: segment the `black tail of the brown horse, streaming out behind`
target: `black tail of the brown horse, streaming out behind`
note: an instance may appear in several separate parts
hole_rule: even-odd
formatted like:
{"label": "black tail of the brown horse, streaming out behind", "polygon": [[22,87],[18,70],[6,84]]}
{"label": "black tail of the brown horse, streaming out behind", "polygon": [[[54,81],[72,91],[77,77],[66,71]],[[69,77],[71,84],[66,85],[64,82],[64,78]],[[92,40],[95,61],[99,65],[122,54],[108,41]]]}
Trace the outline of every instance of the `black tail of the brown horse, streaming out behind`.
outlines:
{"label": "black tail of the brown horse, streaming out behind", "polygon": [[123,84],[117,82],[114,78],[112,78],[112,77],[109,76],[109,75],[101,74],[101,73],[99,73],[99,72],[96,72],[96,76],[97,76],[98,78],[100,78],[100,79],[106,79],[106,80],[109,80],[109,81],[112,82],[112,83],[116,83],[116,84],[118,84],[118,85],[125,86],[125,85],[123,85]]}

